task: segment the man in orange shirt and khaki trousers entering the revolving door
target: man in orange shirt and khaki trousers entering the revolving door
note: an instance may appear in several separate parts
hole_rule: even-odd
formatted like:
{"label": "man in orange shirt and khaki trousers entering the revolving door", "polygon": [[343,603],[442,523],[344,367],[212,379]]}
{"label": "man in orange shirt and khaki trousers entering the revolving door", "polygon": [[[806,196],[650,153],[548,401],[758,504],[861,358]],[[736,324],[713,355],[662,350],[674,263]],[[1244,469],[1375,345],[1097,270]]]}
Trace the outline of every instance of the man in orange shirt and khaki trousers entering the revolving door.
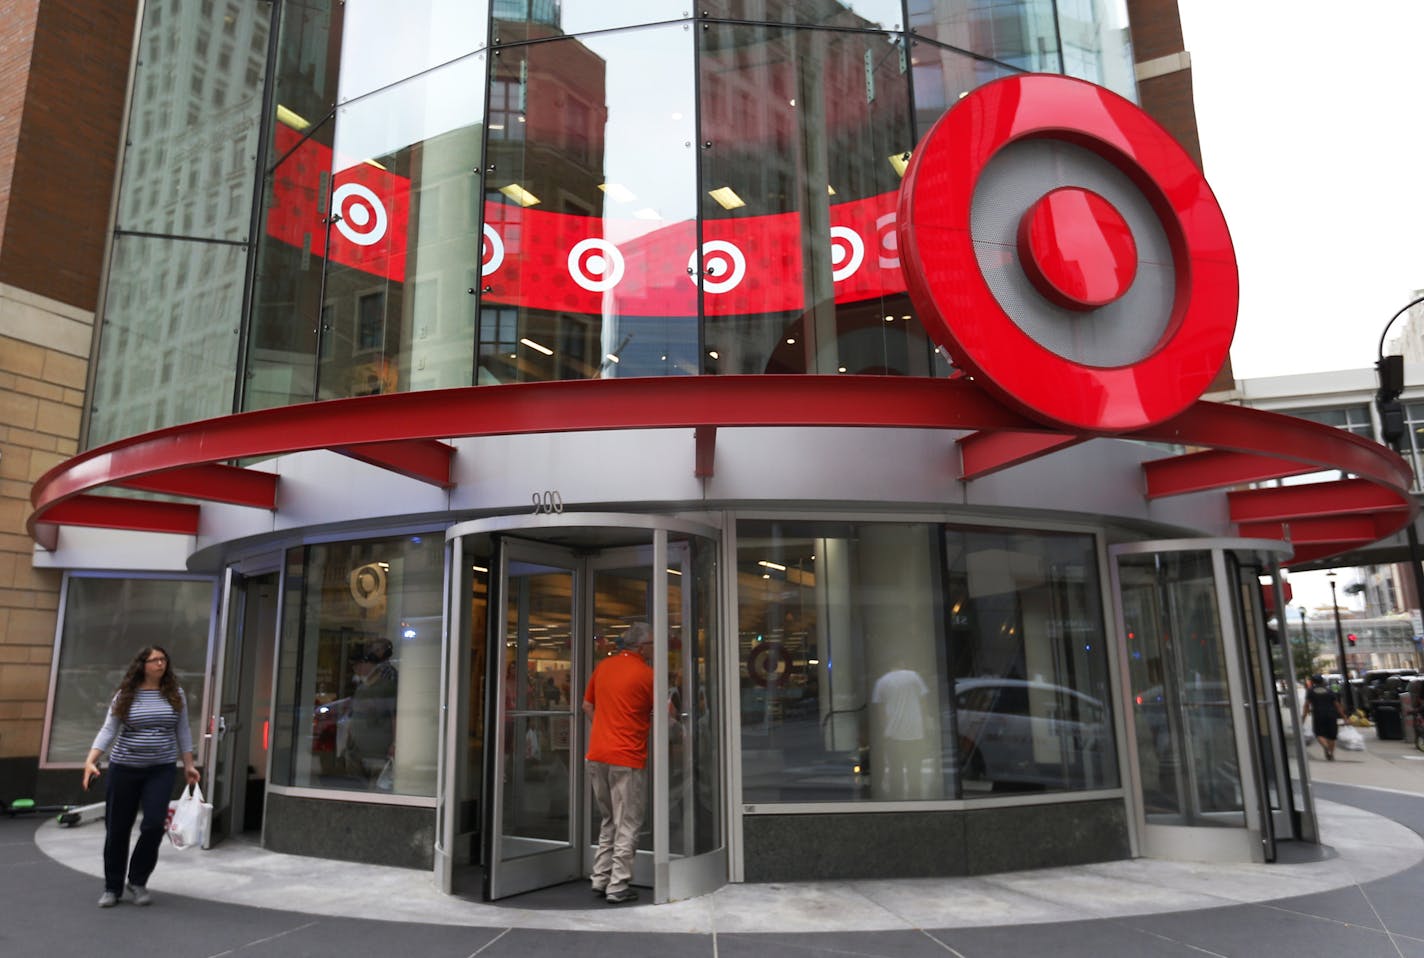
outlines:
{"label": "man in orange shirt and khaki trousers entering the revolving door", "polygon": [[646,794],[651,658],[652,631],[646,622],[634,622],[618,638],[618,652],[598,663],[584,690],[584,713],[594,719],[585,756],[588,780],[602,816],[592,887],[611,905],[638,900],[628,883]]}

